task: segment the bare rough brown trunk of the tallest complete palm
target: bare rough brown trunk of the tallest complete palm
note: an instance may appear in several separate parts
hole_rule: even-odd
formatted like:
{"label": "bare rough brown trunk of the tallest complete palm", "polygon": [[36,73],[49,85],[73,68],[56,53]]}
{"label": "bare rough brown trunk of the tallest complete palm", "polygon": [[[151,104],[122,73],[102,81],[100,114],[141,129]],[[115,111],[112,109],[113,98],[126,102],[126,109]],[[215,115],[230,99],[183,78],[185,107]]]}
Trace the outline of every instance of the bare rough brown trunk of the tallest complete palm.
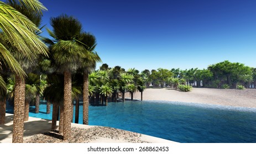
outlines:
{"label": "bare rough brown trunk of the tallest complete palm", "polygon": [[64,128],[63,128],[63,140],[69,140],[71,134],[71,72],[64,72]]}

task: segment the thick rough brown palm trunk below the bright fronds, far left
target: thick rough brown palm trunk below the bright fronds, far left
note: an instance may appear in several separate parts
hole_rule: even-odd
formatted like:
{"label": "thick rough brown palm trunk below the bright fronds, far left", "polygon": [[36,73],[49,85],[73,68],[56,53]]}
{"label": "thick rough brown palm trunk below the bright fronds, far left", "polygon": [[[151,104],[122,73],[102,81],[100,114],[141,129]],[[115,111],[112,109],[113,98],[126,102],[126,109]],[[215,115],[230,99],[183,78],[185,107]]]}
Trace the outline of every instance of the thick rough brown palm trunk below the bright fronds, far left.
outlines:
{"label": "thick rough brown palm trunk below the bright fronds, far left", "polygon": [[25,112],[25,81],[15,75],[13,114],[13,143],[23,142],[24,112]]}

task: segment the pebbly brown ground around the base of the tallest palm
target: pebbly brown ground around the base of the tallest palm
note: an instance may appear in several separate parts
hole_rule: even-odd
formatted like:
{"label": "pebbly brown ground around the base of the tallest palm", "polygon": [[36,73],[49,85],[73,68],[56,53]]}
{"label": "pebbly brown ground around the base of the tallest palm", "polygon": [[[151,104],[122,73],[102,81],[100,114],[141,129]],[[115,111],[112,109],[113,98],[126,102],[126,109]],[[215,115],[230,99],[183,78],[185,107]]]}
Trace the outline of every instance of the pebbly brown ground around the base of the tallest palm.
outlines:
{"label": "pebbly brown ground around the base of the tallest palm", "polygon": [[67,141],[62,140],[62,135],[58,131],[47,131],[31,136],[31,138],[24,140],[24,143],[88,143],[99,138],[119,140],[120,142],[147,143],[147,141],[140,139],[142,134],[116,128],[93,127],[82,129],[72,127],[71,131],[71,139]]}

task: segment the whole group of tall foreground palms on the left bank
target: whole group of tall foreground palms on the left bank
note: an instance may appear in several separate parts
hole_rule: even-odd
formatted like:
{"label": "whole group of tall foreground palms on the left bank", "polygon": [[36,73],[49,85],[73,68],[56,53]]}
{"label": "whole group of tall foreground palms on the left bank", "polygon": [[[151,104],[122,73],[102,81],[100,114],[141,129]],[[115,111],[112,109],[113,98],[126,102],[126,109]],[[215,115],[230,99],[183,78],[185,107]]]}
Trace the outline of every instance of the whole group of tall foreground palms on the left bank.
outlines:
{"label": "whole group of tall foreground palms on the left bank", "polygon": [[[14,75],[13,142],[23,142],[24,119],[27,119],[25,117],[28,115],[29,102],[34,92],[36,100],[39,101],[38,81],[41,73],[47,74],[50,81],[50,86],[46,89],[56,87],[56,84],[63,87],[55,89],[49,95],[47,91],[44,94],[54,103],[54,112],[58,106],[61,108],[59,131],[62,131],[64,140],[69,140],[71,134],[72,74],[83,76],[83,123],[88,124],[88,73],[100,61],[94,51],[96,39],[82,31],[79,20],[68,15],[50,19],[53,31],[48,29],[48,32],[52,39],[40,37],[38,26],[43,10],[46,8],[36,0],[0,2],[0,119],[1,122],[5,119],[6,81]],[[56,90],[63,93],[62,97],[51,97]]]}

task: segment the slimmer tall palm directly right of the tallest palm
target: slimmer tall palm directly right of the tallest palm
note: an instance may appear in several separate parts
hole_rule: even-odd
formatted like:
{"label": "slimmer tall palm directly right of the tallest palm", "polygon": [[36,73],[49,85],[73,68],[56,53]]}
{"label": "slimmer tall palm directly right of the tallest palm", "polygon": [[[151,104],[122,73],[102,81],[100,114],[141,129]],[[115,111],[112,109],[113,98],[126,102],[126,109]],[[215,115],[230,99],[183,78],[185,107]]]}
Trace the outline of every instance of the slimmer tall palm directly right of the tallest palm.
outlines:
{"label": "slimmer tall palm directly right of the tallest palm", "polygon": [[85,57],[82,58],[82,67],[83,70],[83,124],[88,124],[88,107],[89,107],[89,94],[88,94],[88,85],[89,85],[89,73],[95,69],[96,63],[101,61],[101,58],[96,52],[94,52],[97,45],[96,38],[90,33],[83,32],[80,35],[81,45],[85,48],[83,53]]}

